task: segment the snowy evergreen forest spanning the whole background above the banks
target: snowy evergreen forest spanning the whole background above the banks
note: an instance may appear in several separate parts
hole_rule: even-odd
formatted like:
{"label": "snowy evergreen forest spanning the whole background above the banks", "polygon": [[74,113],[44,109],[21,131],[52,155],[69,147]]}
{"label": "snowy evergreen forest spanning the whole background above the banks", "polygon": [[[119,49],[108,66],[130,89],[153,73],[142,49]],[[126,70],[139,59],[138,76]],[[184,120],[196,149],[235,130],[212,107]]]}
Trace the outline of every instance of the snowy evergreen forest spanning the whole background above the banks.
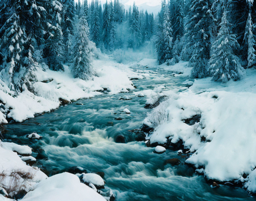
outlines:
{"label": "snowy evergreen forest spanning the whole background above the banks", "polygon": [[0,2],[1,80],[22,90],[35,81],[35,69],[93,75],[97,52],[138,49],[153,43],[159,64],[189,61],[195,78],[239,80],[254,68],[253,0],[168,0],[158,14],[125,10],[119,0],[3,0]]}

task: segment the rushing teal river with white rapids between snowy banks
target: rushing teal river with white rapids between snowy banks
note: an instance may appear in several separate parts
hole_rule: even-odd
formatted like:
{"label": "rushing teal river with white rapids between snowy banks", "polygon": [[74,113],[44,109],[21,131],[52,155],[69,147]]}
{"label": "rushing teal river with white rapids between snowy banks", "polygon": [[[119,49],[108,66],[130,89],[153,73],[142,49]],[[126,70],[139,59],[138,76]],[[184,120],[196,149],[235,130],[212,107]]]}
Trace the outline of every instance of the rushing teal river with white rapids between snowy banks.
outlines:
{"label": "rushing teal river with white rapids between snowy banks", "polygon": [[[148,78],[133,81],[137,86],[134,91],[183,86],[185,78],[150,70],[146,71]],[[124,95],[132,100],[119,100]],[[31,146],[38,165],[50,175],[73,166],[104,172],[106,187],[113,190],[117,201],[255,200],[242,188],[211,188],[203,176],[184,164],[186,158],[177,150],[155,154],[154,148],[135,141],[135,134],[128,130],[140,128],[150,111],[144,108],[145,102],[146,97],[136,97],[133,92],[79,100],[25,122],[7,124],[5,138]],[[123,112],[124,108],[131,114]],[[119,117],[123,120],[116,120]],[[26,134],[33,131],[43,138],[27,139]],[[125,144],[115,142],[120,134],[125,136]],[[179,158],[181,164],[165,165],[168,158]]]}

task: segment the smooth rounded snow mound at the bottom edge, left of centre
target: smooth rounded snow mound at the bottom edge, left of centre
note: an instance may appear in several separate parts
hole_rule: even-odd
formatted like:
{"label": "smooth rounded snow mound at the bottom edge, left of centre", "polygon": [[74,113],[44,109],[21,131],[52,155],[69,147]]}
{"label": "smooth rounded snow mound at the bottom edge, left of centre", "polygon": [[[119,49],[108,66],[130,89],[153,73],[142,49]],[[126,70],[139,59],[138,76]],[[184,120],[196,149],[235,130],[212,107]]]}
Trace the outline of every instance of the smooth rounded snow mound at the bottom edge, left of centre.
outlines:
{"label": "smooth rounded snow mound at the bottom edge, left of centre", "polygon": [[80,183],[74,174],[64,172],[43,180],[21,201],[106,201],[92,188]]}

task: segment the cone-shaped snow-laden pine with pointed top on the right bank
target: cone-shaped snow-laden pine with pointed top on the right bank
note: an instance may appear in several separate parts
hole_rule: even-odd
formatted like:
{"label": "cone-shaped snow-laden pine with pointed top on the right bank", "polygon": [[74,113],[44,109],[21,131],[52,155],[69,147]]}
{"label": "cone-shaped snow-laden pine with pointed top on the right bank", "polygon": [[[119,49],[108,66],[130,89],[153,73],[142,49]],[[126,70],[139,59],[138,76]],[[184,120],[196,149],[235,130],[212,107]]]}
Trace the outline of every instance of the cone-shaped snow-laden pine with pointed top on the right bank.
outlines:
{"label": "cone-shaped snow-laden pine with pointed top on the right bank", "polygon": [[230,79],[234,81],[240,79],[239,60],[235,51],[239,50],[239,43],[235,35],[231,34],[231,24],[227,20],[227,12],[223,7],[223,16],[221,18],[217,40],[213,43],[210,62],[210,73],[213,81],[227,82]]}

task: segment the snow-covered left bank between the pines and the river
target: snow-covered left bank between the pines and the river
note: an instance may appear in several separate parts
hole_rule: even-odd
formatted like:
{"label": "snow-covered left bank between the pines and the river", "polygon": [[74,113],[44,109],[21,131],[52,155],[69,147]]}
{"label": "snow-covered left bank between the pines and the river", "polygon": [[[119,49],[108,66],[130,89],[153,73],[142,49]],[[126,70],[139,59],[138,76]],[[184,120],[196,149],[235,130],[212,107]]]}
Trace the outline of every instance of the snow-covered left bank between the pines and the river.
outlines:
{"label": "snow-covered left bank between the pines and the river", "polygon": [[[64,72],[38,68],[37,82],[33,91],[23,85],[22,93],[10,91],[4,82],[0,83],[0,123],[7,123],[6,118],[17,122],[33,118],[35,114],[50,112],[60,106],[59,100],[65,102],[101,95],[104,89],[109,93],[128,92],[134,89],[130,79],[142,78],[140,73],[133,72],[128,65],[116,63],[107,55],[93,62],[97,76],[89,81],[74,79],[68,66]],[[66,104],[66,103],[62,104]]]}

